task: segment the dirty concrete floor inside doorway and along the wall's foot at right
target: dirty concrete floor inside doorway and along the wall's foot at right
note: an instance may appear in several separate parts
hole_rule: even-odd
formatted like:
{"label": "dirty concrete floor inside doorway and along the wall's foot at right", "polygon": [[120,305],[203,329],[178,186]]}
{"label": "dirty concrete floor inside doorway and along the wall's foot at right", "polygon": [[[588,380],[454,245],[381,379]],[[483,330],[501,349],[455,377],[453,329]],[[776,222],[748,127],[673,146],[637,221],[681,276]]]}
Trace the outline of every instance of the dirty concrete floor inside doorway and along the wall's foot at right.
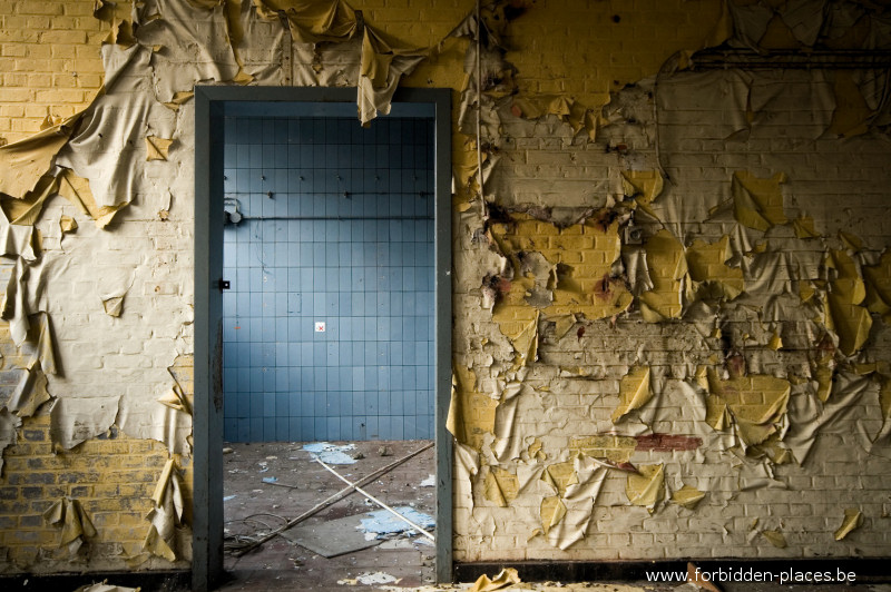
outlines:
{"label": "dirty concrete floor inside doorway and along the wall's foot at right", "polygon": [[[343,444],[343,443],[337,443]],[[350,454],[355,464],[334,468],[356,482],[428,444],[424,441],[356,442]],[[218,590],[234,591],[454,591],[469,590],[472,584],[435,586],[433,582],[433,546],[420,536],[394,536],[381,544],[325,559],[282,536],[274,536],[257,549],[241,556],[235,547],[256,539],[288,520],[312,509],[345,485],[325,471],[298,443],[227,444],[224,455],[224,502],[227,551],[225,569],[231,579]],[[430,448],[363,486],[391,506],[412,505],[433,515],[435,490],[422,483],[434,473],[434,450]],[[276,485],[263,478],[275,478]],[[327,521],[358,516],[379,507],[355,492],[309,517],[302,525],[319,525]],[[294,530],[286,531],[293,533]],[[495,574],[491,574],[492,576]],[[378,583],[373,583],[376,581]],[[368,583],[363,583],[368,582]],[[537,590],[566,592],[596,590],[600,592],[677,591],[697,592],[694,584],[647,582],[587,582],[576,584],[521,583],[501,590]],[[737,591],[858,591],[891,592],[891,584],[858,585],[780,585],[736,583],[725,584],[726,592]]]}

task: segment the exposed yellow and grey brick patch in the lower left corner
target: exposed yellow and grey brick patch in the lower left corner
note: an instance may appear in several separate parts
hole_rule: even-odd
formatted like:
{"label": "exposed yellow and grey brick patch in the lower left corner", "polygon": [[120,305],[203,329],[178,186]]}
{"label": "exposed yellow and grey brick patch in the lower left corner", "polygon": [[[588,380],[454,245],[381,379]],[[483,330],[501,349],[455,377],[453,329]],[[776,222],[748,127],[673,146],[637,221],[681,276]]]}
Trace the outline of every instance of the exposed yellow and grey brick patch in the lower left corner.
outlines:
{"label": "exposed yellow and grey brick patch in the lower left corner", "polygon": [[[48,415],[26,418],[19,442],[3,454],[0,484],[0,546],[18,569],[58,571],[68,563],[59,549],[60,529],[42,514],[61,497],[77,500],[96,526],[82,553],[97,569],[126,570],[126,560],[146,561],[145,516],[167,462],[159,442],[134,440],[117,428],[70,451],[53,451]],[[58,563],[51,560],[60,560]],[[76,564],[71,563],[71,564]]]}

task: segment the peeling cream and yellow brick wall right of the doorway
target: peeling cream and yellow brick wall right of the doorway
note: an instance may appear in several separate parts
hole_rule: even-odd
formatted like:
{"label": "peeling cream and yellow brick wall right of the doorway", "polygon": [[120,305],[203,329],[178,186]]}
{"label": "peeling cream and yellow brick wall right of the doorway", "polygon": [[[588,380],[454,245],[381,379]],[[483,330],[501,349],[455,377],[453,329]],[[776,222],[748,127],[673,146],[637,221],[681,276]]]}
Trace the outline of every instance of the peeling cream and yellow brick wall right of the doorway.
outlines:
{"label": "peeling cream and yellow brick wall right of the doorway", "polygon": [[[557,6],[548,3],[551,8]],[[479,217],[472,201],[461,217],[466,231],[489,228],[491,239],[479,240],[477,235],[476,240],[461,240],[458,249],[457,364],[467,365],[471,371],[467,375],[473,377],[472,386],[466,381],[459,385],[467,392],[466,404],[472,406],[480,392],[500,403],[493,417],[487,415],[464,428],[474,434],[467,444],[481,452],[481,462],[477,476],[469,477],[472,493],[461,489],[456,500],[457,556],[487,561],[493,556],[881,555],[888,542],[881,526],[884,491],[869,475],[884,471],[882,455],[887,454],[856,434],[879,434],[884,412],[877,397],[884,378],[881,372],[863,378],[860,395],[843,385],[853,381],[851,375],[873,372],[858,371],[860,364],[888,359],[887,329],[873,315],[868,341],[862,348],[854,347],[856,336],[845,337],[848,329],[840,324],[833,327],[832,318],[820,312],[826,296],[810,300],[807,294],[812,288],[820,293],[826,278],[834,277],[824,263],[829,250],[850,249],[850,257],[869,266],[888,246],[880,195],[889,178],[874,168],[887,158],[888,144],[881,132],[843,138],[831,126],[833,118],[845,114],[845,97],[839,97],[836,112],[835,103],[820,102],[820,93],[826,81],[831,86],[843,72],[747,72],[741,76],[742,92],[733,79],[740,75],[723,78],[708,72],[664,73],[655,86],[649,78],[621,88],[635,76],[652,77],[660,66],[656,49],[665,48],[662,60],[672,53],[667,49],[672,42],[663,42],[660,36],[683,38],[685,28],[677,14],[664,20],[673,23],[666,27],[657,19],[647,20],[657,40],[645,43],[647,48],[638,53],[637,48],[623,45],[620,36],[609,34],[638,16],[627,8],[610,8],[620,17],[618,22],[605,19],[605,3],[585,9],[586,24],[601,22],[598,31],[607,37],[596,43],[623,48],[620,55],[610,56],[611,62],[629,56],[635,62],[652,62],[648,73],[631,75],[633,65],[613,70],[616,85],[609,88],[611,102],[604,109],[610,125],[598,128],[595,142],[581,140],[569,125],[561,124],[566,116],[559,110],[526,121],[518,117],[525,108],[511,109],[510,102],[495,106],[499,135],[489,139],[497,145],[492,152],[498,164],[487,184],[489,220]],[[572,57],[584,55],[581,36],[513,38],[523,28],[565,31],[574,27],[568,18],[554,12],[549,17],[526,21],[523,16],[509,28],[511,41],[539,49],[520,56],[510,46],[506,55],[517,66],[520,97],[567,88],[575,89],[571,96],[581,97],[581,89],[588,88],[581,81],[597,83],[599,71],[593,67],[589,75],[576,77],[569,73],[577,71],[572,58],[547,57],[549,46],[560,48],[555,53],[564,49]],[[575,22],[580,20],[576,14]],[[707,30],[702,23],[697,28]],[[696,47],[689,40],[684,43]],[[555,73],[558,70],[566,73],[560,77]],[[746,115],[750,97],[758,110]],[[517,105],[521,103],[515,100]],[[660,169],[665,187],[654,198],[639,179],[653,178]],[[629,188],[628,180],[639,186]],[[738,221],[745,216],[738,187],[751,182],[757,184],[752,195],[761,205],[766,219],[762,230],[766,231],[754,231],[751,220],[748,226]],[[629,196],[634,201],[628,201]],[[623,234],[628,217],[643,233],[640,245]],[[821,238],[809,238],[797,226],[810,224],[809,218]],[[555,236],[571,231],[575,226],[568,221],[579,219],[586,230],[615,220],[616,226],[607,226],[606,233],[621,240],[621,256],[611,250],[601,254],[590,244],[558,246]],[[840,231],[853,235],[854,246]],[[487,259],[484,254],[492,251],[502,258]],[[601,268],[586,283],[589,274],[584,263],[590,257],[599,257]],[[558,263],[566,265],[562,274],[554,268]],[[633,265],[645,267],[646,274],[634,277]],[[585,310],[578,296],[568,307],[555,306],[564,296],[561,276],[581,278],[580,294],[596,298],[603,294],[597,280],[605,273],[607,285],[610,278],[618,279],[615,290],[634,295],[629,302],[617,298],[623,303],[618,316],[608,308]],[[470,277],[479,276],[483,282],[474,285]],[[491,309],[491,323],[487,309]],[[567,313],[576,315],[568,325]],[[526,341],[530,325],[538,332],[537,351],[530,354],[537,359],[518,369],[517,354],[530,349]],[[842,335],[836,346],[846,353],[836,353],[831,363],[830,373],[836,377],[830,403],[822,412],[814,407],[804,412],[820,397],[819,383],[829,384],[819,378],[825,359],[821,343],[832,341],[828,336],[836,332]],[[630,398],[625,378],[640,367],[652,374],[649,397],[638,411],[615,422],[611,414]],[[715,376],[711,382],[708,372]],[[499,386],[505,384],[522,388],[508,398],[501,394],[505,386]],[[832,397],[838,397],[838,407]],[[721,424],[725,405],[735,426]],[[813,440],[802,435],[815,416],[831,416],[842,406],[859,418],[817,431]],[[779,415],[765,418],[765,410],[773,407]],[[473,424],[472,412],[466,410],[463,417]],[[512,424],[506,444],[498,426],[509,417]],[[748,423],[753,418],[757,427]],[[584,537],[559,549],[547,532],[536,530],[546,522],[544,501],[555,495],[538,475],[571,460],[574,437],[607,433],[639,438],[640,445],[629,456],[635,466],[664,466],[665,484],[659,486],[664,502],[652,514],[636,507],[626,489],[627,475],[611,471],[582,524]],[[667,438],[677,438],[678,445],[663,445],[672,442]],[[517,440],[522,444],[510,443]],[[541,443],[535,456],[523,452],[533,442]],[[812,447],[811,442],[815,442]],[[507,456],[501,454],[506,447]],[[603,451],[591,454],[606,456]],[[861,471],[845,470],[861,477],[828,473],[844,463],[861,466]],[[499,475],[496,478],[503,482],[506,472],[519,480],[520,491],[501,507],[486,492],[489,475]],[[694,510],[672,502],[674,492],[685,485],[705,493]],[[570,507],[571,500],[556,493]],[[863,526],[836,541],[834,533],[845,509],[859,509]],[[763,534],[774,530],[785,539],[782,547]]]}

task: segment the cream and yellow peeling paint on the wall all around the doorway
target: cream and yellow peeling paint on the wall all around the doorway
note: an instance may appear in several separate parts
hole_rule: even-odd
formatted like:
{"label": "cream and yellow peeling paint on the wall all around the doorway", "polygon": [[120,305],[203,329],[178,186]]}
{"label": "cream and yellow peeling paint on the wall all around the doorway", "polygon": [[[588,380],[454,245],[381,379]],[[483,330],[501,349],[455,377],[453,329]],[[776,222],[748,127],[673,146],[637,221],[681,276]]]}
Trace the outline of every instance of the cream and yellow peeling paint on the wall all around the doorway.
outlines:
{"label": "cream and yellow peeling paint on the wall all around the doorway", "polygon": [[[38,450],[40,422],[40,445],[65,458],[117,430],[163,443],[155,495],[119,501],[151,512],[116,561],[188,561],[195,85],[355,87],[356,125],[389,112],[399,86],[447,86],[456,558],[881,554],[866,509],[891,456],[887,85],[872,68],[704,66],[722,43],[722,59],[878,49],[887,14],[678,7],[610,19],[604,3],[495,2],[478,22],[343,1],[96,2],[101,80],[68,103],[59,86],[40,108],[0,106],[16,140],[0,146],[3,462]],[[71,63],[88,68],[84,48]],[[691,521],[648,545],[659,526],[634,506],[654,513],[666,490],[681,515],[770,507],[776,522]],[[832,541],[838,491],[863,511],[845,510]],[[80,541],[62,517],[78,502],[42,502],[63,544]],[[812,522],[780,515],[799,502]],[[802,534],[815,530],[839,550]],[[14,569],[38,551],[12,550]]]}

